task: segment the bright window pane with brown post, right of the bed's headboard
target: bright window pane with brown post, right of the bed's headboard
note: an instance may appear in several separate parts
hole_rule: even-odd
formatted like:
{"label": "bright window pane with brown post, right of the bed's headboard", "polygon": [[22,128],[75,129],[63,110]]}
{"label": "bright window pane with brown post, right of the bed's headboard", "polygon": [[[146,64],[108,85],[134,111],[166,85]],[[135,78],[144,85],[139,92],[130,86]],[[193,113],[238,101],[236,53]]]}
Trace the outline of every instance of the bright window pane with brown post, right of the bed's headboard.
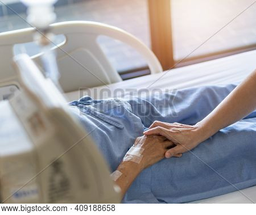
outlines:
{"label": "bright window pane with brown post, right of the bed's headboard", "polygon": [[165,70],[256,48],[253,0],[148,0],[148,6],[152,49]]}

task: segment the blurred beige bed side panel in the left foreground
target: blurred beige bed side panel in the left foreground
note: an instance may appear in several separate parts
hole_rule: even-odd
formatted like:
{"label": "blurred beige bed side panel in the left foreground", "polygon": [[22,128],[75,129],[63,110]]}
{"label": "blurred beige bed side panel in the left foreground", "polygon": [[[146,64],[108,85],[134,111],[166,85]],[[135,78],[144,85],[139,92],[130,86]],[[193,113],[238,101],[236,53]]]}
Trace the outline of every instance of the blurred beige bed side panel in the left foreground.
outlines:
{"label": "blurred beige bed side panel in the left foreground", "polygon": [[0,193],[5,203],[118,203],[102,155],[51,79],[15,57],[22,91],[0,102]]}

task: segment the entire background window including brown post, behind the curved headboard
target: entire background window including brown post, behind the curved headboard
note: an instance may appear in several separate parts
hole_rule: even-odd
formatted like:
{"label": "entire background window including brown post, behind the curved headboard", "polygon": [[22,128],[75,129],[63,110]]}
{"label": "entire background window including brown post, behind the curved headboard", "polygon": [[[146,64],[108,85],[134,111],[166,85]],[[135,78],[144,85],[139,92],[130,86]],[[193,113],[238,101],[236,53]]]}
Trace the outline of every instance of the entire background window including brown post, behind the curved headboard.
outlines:
{"label": "entire background window including brown post, behind the curved headboard", "polygon": [[[0,32],[26,28],[26,8],[1,0]],[[56,22],[89,20],[132,33],[150,47],[165,70],[256,48],[254,0],[59,0]],[[18,12],[17,16],[13,9]],[[98,42],[123,79],[149,74],[132,48]]]}

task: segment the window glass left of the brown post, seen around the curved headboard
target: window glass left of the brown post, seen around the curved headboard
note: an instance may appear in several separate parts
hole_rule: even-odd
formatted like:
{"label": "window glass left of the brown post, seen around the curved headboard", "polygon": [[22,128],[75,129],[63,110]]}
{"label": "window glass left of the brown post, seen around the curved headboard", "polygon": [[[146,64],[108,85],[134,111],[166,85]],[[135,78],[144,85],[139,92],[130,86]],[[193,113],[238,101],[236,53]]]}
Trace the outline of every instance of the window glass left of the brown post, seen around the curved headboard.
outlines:
{"label": "window glass left of the brown post, seen around the curved headboard", "polygon": [[[26,7],[19,1],[9,1],[4,3],[26,19]],[[2,14],[2,17],[0,16],[0,32],[29,27],[8,7],[2,5],[5,13]],[[55,6],[55,12],[57,14],[56,22],[87,20],[110,24],[130,32],[150,47],[147,0],[59,0]],[[123,79],[150,74],[146,62],[131,47],[106,36],[100,36],[98,43]],[[33,48],[32,44],[26,48],[33,49],[29,50],[30,53],[35,53],[37,49],[36,46]]]}

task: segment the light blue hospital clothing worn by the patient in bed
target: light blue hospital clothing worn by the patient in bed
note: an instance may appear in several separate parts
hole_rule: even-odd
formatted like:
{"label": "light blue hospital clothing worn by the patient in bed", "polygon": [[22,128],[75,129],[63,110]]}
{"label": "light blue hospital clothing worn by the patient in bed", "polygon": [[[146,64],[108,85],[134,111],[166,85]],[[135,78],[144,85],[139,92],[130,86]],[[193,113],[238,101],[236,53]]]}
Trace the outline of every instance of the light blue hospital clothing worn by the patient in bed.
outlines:
{"label": "light blue hospital clothing worn by the patient in bed", "polygon": [[[205,86],[132,99],[85,96],[70,105],[114,171],[135,138],[155,120],[195,124],[234,87]],[[163,159],[143,170],[123,203],[187,203],[255,184],[256,111],[183,157]]]}

